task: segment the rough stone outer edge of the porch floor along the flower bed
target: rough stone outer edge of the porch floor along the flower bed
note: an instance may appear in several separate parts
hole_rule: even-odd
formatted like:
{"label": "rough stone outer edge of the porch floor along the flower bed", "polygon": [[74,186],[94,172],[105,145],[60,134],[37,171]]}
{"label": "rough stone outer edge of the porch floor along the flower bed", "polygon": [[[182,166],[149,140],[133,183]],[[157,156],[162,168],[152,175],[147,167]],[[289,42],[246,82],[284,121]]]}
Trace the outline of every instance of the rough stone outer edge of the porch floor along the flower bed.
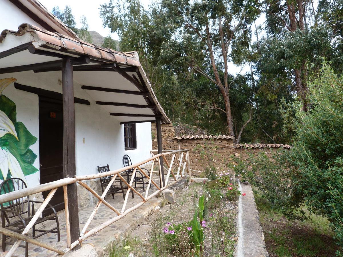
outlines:
{"label": "rough stone outer edge of the porch floor along the flower bed", "polygon": [[[120,231],[112,235],[105,235],[104,241],[101,246],[93,245],[92,243],[82,244],[82,247],[79,250],[68,252],[64,256],[68,257],[100,257],[108,256],[109,250],[113,245],[117,244],[121,239],[127,237],[131,232],[137,228],[138,224],[141,224],[144,219],[149,217],[152,213],[159,210],[162,204],[162,200],[165,198],[168,203],[176,203],[174,197],[175,192],[181,191],[188,184],[188,178],[182,179],[179,182],[171,185],[170,187],[164,189],[157,197],[153,197],[150,201],[147,201],[139,209],[136,210],[136,213],[129,213],[126,217],[118,220],[115,224],[117,227],[120,227]],[[161,197],[163,196],[163,198]],[[101,231],[95,236],[101,236]]]}

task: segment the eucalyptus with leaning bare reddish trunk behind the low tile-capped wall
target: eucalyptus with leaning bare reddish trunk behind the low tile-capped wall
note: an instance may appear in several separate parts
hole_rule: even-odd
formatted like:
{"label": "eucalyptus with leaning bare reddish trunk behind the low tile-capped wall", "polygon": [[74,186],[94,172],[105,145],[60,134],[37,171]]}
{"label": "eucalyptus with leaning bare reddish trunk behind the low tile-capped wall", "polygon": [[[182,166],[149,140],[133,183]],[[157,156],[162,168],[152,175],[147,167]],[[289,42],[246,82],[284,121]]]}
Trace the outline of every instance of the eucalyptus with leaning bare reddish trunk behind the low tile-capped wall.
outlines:
{"label": "eucalyptus with leaning bare reddish trunk behind the low tile-capped wall", "polygon": [[[163,54],[170,60],[177,58],[216,85],[222,99],[206,108],[225,113],[228,134],[238,143],[252,111],[244,124],[235,129],[230,102],[235,78],[230,76],[228,63],[239,62],[248,52],[250,25],[260,13],[257,2],[162,0],[161,9],[168,26],[175,30],[173,38],[163,45]],[[218,107],[221,100],[224,108]]]}

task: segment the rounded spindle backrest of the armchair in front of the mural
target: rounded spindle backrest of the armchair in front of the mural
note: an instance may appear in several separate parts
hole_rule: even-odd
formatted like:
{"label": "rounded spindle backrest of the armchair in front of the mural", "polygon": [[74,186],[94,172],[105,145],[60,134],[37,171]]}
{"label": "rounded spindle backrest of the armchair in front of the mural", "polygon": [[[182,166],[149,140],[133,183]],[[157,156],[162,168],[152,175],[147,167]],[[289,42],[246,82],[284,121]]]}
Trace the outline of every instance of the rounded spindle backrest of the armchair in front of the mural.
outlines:
{"label": "rounded spindle backrest of the armchair in front of the mural", "polygon": [[[3,181],[0,184],[1,194],[7,194],[13,191],[18,191],[23,188],[27,188],[27,186],[24,180],[20,178],[10,178]],[[30,199],[28,196],[17,198],[12,201],[8,201],[7,203],[1,203],[0,205],[2,209],[9,209],[12,211],[16,211],[21,216],[23,216],[25,213],[27,213],[28,216],[30,215]],[[17,216],[15,214],[8,215],[8,212],[4,212],[4,215],[8,222],[10,218]]]}

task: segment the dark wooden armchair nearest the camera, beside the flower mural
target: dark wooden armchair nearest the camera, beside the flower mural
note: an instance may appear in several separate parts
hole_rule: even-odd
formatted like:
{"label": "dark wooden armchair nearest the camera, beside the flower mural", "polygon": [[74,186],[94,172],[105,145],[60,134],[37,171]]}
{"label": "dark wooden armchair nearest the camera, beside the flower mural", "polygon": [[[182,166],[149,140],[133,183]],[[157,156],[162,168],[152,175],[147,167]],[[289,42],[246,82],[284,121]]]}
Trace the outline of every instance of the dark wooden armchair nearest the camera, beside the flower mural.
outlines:
{"label": "dark wooden armchair nearest the camera, beside the flower mural", "polygon": [[[0,184],[0,192],[7,194],[9,192],[17,191],[23,188],[26,188],[26,183],[20,178],[10,178],[3,181]],[[30,203],[31,203],[31,212],[30,212]],[[3,228],[9,229],[11,231],[22,233],[26,225],[32,220],[32,217],[35,215],[35,206],[34,203],[43,204],[42,201],[33,201],[27,197],[21,197],[7,203],[1,203],[1,226]],[[46,217],[38,218],[32,227],[32,237],[37,238],[47,233],[57,233],[57,241],[60,241],[60,225],[58,223],[58,216],[55,208],[48,204],[46,208],[51,208],[54,212]],[[48,230],[36,229],[36,225],[45,222],[47,220],[56,220],[56,227]],[[7,224],[6,224],[7,222]],[[36,232],[42,232],[39,235],[36,235]],[[2,235],[2,251],[5,252],[6,245],[13,245],[13,242],[7,241],[6,235]],[[20,245],[20,247],[25,247],[25,256],[28,256],[28,243],[25,245]]]}

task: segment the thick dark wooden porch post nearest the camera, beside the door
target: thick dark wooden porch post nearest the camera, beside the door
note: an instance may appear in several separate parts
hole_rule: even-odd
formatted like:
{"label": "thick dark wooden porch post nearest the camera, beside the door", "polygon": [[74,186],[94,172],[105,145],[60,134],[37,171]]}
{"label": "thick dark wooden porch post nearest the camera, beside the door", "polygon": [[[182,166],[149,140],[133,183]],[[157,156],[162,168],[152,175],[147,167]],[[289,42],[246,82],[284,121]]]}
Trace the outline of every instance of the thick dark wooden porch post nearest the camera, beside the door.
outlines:
{"label": "thick dark wooden porch post nearest the camera, beside the door", "polygon": [[[63,92],[63,175],[73,178],[76,175],[75,166],[75,108],[73,63],[70,58],[62,61],[62,92]],[[80,237],[78,194],[76,183],[67,185],[68,210],[70,220],[71,242]],[[78,249],[76,246],[74,249]]]}

